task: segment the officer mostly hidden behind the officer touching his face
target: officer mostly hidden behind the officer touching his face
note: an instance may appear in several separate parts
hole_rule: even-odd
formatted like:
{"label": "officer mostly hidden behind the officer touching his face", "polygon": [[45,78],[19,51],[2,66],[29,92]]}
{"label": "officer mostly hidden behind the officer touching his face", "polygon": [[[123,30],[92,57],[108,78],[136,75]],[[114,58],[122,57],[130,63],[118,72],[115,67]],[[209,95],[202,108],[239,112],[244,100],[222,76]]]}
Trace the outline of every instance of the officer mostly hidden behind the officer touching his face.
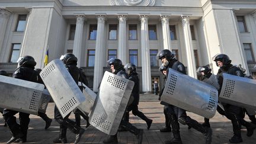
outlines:
{"label": "officer mostly hidden behind the officer touching his face", "polygon": [[[167,78],[167,74],[168,74],[168,69],[167,69],[167,66],[164,66],[164,65],[161,65],[159,67],[159,71],[162,72],[162,74],[164,75],[164,79]],[[162,93],[164,92],[164,88],[161,90],[160,94],[159,94],[159,100],[162,96]],[[171,132],[171,121],[169,120],[169,117],[168,117],[168,106],[169,104],[168,103],[165,103],[164,101],[161,101],[162,105],[164,105],[164,115],[165,115],[165,127],[160,129],[160,132]]]}

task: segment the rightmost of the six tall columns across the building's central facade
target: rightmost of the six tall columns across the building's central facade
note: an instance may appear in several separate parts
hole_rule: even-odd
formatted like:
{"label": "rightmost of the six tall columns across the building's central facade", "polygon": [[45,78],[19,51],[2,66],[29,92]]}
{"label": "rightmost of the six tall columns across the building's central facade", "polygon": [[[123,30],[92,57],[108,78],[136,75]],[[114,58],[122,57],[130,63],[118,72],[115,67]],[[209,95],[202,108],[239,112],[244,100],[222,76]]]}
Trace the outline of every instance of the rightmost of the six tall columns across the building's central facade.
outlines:
{"label": "rightmost of the six tall columns across the building's central facade", "polygon": [[194,49],[193,49],[193,43],[191,38],[190,23],[189,23],[190,17],[182,16],[181,21],[183,24],[183,31],[184,31],[188,75],[197,79],[196,62],[194,57]]}

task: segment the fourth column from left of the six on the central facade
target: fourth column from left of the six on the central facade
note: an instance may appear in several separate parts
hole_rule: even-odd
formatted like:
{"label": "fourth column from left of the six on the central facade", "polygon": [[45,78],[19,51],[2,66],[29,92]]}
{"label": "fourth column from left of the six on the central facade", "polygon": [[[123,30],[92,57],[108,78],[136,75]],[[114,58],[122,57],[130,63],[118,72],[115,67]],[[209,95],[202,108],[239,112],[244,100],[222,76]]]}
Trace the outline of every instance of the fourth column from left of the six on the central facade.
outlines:
{"label": "fourth column from left of the six on the central facade", "polygon": [[148,15],[140,15],[142,52],[142,91],[151,92],[151,65],[149,56]]}

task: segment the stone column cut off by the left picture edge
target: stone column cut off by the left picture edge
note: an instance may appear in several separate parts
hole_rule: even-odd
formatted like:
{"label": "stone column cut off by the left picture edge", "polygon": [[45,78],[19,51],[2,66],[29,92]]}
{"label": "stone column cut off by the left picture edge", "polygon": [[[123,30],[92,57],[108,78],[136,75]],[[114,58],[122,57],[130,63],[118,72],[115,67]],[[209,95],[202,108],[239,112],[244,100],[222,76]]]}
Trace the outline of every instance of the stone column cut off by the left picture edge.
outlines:
{"label": "stone column cut off by the left picture edge", "polygon": [[11,15],[11,12],[2,8],[0,9],[0,52],[2,50],[2,44],[5,38],[5,30],[7,28],[9,15]]}

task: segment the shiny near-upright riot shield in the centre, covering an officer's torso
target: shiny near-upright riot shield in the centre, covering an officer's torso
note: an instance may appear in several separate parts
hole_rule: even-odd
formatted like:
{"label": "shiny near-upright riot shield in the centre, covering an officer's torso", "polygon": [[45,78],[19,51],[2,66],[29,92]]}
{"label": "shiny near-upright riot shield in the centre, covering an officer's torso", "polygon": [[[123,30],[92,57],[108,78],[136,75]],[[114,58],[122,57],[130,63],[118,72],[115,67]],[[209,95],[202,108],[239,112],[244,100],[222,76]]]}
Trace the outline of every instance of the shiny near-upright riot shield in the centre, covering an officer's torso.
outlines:
{"label": "shiny near-upright riot shield in the centre, covering an officer's torso", "polygon": [[89,123],[108,135],[115,135],[126,110],[134,82],[105,72]]}

